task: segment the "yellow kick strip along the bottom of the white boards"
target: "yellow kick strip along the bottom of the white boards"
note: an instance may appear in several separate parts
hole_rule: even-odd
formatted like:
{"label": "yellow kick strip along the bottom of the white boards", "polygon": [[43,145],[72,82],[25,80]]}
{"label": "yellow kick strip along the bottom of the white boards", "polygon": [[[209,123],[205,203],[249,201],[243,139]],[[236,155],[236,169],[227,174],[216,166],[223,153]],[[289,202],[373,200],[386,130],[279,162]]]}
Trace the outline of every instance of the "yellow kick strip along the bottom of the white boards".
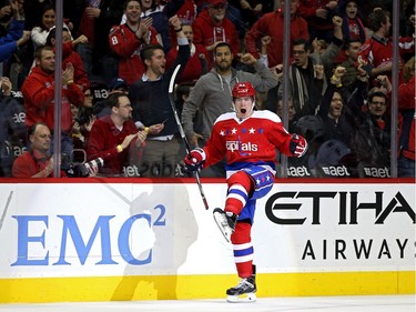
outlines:
{"label": "yellow kick strip along the bottom of the white boards", "polygon": [[[149,275],[0,280],[1,303],[225,298],[236,275]],[[257,296],[414,294],[415,271],[264,273]]]}

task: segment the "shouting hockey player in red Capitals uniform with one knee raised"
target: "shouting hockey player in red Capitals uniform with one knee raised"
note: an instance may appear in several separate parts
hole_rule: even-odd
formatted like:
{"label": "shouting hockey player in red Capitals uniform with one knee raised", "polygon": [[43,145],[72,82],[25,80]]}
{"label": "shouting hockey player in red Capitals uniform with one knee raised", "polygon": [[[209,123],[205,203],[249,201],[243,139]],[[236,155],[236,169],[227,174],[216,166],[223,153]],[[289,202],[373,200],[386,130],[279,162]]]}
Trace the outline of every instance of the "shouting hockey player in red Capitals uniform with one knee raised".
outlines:
{"label": "shouting hockey player in red Capitals uniform with one knee raised", "polygon": [[[221,114],[203,149],[185,157],[189,171],[206,168],[226,157],[227,197],[224,210],[214,209],[214,219],[224,238],[233,244],[234,261],[241,282],[226,291],[229,302],[255,301],[255,266],[251,229],[255,203],[273,187],[276,148],[288,157],[302,157],[306,140],[290,134],[271,111],[254,110],[255,90],[239,82],[232,90],[235,112]],[[244,296],[242,296],[244,295]]]}

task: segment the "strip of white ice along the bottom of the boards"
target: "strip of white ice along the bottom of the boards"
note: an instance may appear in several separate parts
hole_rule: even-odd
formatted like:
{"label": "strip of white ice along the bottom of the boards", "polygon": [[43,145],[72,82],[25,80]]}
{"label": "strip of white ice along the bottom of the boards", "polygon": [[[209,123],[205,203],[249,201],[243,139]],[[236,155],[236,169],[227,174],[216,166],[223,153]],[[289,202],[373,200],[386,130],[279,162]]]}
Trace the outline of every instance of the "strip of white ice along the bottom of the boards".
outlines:
{"label": "strip of white ice along the bottom of the boards", "polygon": [[159,300],[82,303],[0,304],[9,312],[415,312],[415,295],[257,298],[254,303],[225,300]]}

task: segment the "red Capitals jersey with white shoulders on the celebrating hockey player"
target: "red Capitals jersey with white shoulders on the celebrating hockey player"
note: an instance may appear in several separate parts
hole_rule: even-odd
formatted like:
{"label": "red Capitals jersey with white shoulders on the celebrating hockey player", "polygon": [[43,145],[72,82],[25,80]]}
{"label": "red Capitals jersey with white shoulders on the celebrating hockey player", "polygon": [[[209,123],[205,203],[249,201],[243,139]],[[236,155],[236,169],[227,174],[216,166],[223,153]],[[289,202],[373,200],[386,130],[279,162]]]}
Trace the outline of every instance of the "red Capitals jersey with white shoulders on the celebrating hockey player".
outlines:
{"label": "red Capitals jersey with white shoulders on the celebrating hockey player", "polygon": [[235,112],[224,113],[214,123],[211,138],[204,147],[205,167],[226,157],[230,169],[250,164],[274,163],[276,148],[292,157],[291,134],[281,119],[271,111],[254,111],[240,120]]}

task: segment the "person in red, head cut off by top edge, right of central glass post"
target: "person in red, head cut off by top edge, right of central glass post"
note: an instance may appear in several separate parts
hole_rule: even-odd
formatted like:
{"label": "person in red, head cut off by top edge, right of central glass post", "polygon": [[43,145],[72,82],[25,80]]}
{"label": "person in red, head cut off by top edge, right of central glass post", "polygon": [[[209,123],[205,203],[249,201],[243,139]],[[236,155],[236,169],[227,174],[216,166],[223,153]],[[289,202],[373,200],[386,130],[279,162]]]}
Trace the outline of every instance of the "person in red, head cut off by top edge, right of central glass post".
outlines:
{"label": "person in red, head cut off by top edge, right of central glass post", "polygon": [[331,42],[336,0],[300,0],[300,16],[307,22],[311,39],[324,39]]}

